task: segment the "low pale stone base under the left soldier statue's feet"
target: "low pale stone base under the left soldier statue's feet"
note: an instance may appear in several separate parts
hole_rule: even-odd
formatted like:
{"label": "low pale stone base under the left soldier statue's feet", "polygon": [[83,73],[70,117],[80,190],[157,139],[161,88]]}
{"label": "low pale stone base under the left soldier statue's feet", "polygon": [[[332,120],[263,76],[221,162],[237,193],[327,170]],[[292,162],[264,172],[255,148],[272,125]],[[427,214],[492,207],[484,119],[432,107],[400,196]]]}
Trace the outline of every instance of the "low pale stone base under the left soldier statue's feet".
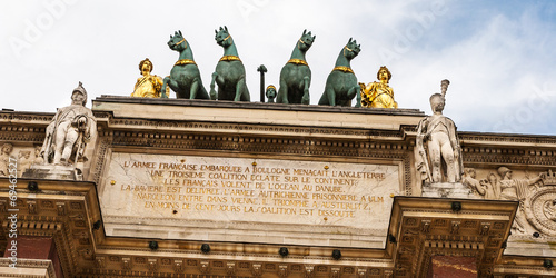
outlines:
{"label": "low pale stone base under the left soldier statue's feet", "polygon": [[73,166],[33,165],[23,172],[23,178],[83,180],[83,175]]}

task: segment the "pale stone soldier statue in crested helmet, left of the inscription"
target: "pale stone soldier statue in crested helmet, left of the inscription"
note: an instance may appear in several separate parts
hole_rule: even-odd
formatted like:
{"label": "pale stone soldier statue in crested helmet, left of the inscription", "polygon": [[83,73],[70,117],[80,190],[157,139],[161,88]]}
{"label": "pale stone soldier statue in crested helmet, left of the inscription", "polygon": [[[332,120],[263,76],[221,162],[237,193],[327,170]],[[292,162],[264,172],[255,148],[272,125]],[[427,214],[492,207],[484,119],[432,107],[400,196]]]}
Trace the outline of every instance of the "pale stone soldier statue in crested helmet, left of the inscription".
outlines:
{"label": "pale stone soldier statue in crested helmet, left of the inscription", "polygon": [[79,82],[71,93],[71,106],[58,109],[47,127],[40,151],[46,165],[70,166],[83,158],[87,142],[97,128],[97,120],[86,103],[87,91]]}

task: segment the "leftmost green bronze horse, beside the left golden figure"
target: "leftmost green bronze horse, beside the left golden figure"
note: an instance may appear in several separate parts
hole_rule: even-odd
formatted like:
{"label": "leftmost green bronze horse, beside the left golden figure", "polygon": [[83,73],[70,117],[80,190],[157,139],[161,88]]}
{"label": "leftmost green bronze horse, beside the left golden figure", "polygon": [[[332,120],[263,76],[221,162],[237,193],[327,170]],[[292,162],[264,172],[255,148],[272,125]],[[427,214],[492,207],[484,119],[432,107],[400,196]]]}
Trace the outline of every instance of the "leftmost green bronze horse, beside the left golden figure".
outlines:
{"label": "leftmost green bronze horse, beside the left golden figure", "polygon": [[178,99],[209,99],[205,86],[202,86],[199,67],[193,60],[191,46],[183,38],[181,31],[170,34],[168,47],[179,52],[179,60],[173,64],[170,76],[162,82],[162,97],[166,95],[167,86],[175,92]]}

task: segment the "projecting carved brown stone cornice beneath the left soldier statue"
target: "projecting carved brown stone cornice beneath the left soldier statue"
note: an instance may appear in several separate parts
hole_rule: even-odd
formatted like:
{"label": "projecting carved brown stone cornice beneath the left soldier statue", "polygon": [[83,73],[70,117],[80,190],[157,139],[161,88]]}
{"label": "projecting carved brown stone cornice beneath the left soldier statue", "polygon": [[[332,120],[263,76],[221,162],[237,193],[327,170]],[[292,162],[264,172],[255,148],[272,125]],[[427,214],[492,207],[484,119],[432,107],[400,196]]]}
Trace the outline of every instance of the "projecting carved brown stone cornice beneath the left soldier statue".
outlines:
{"label": "projecting carved brown stone cornice beneath the left soldier statue", "polygon": [[[78,265],[93,264],[91,221],[100,215],[93,183],[38,180],[39,191],[31,193],[23,187],[28,181],[18,179],[18,235],[51,237],[63,271],[71,276]],[[9,185],[7,178],[0,178],[0,200],[9,200]],[[87,209],[90,206],[97,206],[97,211]],[[0,232],[4,238],[10,212],[0,212]]]}

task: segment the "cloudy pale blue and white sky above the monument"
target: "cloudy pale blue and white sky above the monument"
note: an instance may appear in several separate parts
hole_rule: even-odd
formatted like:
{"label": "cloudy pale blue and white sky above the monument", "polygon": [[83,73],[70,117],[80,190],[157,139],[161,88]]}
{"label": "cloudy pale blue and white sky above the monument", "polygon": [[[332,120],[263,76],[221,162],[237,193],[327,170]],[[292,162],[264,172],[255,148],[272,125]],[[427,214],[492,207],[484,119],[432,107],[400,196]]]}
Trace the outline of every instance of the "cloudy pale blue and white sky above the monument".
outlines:
{"label": "cloudy pale blue and white sky above the monument", "polygon": [[[167,76],[178,60],[167,41],[181,30],[209,89],[226,24],[259,101],[257,67],[277,85],[304,29],[311,105],[349,38],[360,82],[380,66],[400,108],[430,113],[428,97],[449,79],[445,115],[461,131],[556,135],[556,1],[4,1],[0,10],[0,108],[54,112],[82,81],[90,99],[129,96],[148,57]],[[172,93],[172,97],[175,95]]]}

